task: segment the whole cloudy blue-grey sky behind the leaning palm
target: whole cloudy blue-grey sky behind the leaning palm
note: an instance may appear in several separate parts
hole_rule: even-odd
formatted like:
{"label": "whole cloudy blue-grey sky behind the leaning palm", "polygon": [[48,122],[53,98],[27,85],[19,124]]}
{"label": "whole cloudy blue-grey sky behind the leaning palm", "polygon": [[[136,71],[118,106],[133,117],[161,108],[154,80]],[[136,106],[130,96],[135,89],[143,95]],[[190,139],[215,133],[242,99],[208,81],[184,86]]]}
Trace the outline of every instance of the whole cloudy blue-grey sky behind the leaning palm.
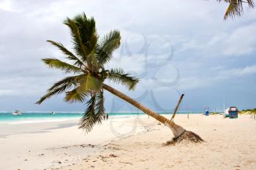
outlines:
{"label": "whole cloudy blue-grey sky behind the leaning palm", "polygon": [[[135,91],[124,91],[157,111],[170,111],[185,94],[181,111],[256,107],[256,9],[223,20],[226,4],[203,0],[85,1],[0,0],[0,111],[83,111],[63,96],[34,103],[64,77],[41,58],[64,58],[46,40],[71,48],[67,17],[85,12],[99,35],[118,29],[121,47],[108,67],[140,77]],[[135,111],[105,93],[106,109]]]}

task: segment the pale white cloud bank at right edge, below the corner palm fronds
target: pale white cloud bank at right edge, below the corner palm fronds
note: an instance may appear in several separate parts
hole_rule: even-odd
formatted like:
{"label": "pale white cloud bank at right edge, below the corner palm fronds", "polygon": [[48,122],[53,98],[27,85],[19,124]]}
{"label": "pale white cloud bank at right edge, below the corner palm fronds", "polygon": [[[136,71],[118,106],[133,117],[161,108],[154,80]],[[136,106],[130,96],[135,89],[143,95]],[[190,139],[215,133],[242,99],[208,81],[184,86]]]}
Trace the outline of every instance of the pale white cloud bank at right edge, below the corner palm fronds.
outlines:
{"label": "pale white cloud bank at right edge, below the corner palm fronds", "polygon": [[199,56],[213,58],[250,55],[256,51],[255,30],[256,23],[246,23],[206,37],[184,36],[181,42],[176,42],[176,52],[192,51],[200,53]]}

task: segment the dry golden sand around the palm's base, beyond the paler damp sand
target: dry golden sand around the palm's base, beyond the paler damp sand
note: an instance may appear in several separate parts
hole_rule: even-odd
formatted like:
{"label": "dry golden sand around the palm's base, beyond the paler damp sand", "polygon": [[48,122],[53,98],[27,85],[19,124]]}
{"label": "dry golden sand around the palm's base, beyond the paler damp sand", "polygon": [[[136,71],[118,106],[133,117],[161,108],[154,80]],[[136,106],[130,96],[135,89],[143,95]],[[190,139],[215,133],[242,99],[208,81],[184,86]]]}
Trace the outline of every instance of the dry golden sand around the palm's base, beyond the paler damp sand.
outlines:
{"label": "dry golden sand around the palm's base, beyond the paler damp sand", "polygon": [[103,152],[61,169],[256,169],[256,121],[248,115],[236,120],[178,115],[178,123],[206,142],[168,147],[162,144],[170,130],[144,120],[151,131],[111,142]]}

